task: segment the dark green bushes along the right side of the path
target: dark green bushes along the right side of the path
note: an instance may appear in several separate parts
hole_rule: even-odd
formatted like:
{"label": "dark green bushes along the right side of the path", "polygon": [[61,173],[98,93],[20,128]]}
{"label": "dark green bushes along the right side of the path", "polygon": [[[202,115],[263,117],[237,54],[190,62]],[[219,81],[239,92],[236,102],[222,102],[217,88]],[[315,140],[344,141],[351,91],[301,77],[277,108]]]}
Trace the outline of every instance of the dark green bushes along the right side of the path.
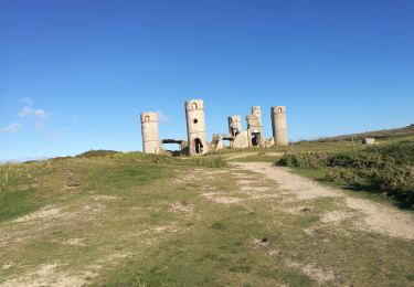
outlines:
{"label": "dark green bushes along the right side of the path", "polygon": [[329,180],[369,188],[414,204],[414,142],[372,147],[358,152],[286,153],[278,166],[327,169]]}

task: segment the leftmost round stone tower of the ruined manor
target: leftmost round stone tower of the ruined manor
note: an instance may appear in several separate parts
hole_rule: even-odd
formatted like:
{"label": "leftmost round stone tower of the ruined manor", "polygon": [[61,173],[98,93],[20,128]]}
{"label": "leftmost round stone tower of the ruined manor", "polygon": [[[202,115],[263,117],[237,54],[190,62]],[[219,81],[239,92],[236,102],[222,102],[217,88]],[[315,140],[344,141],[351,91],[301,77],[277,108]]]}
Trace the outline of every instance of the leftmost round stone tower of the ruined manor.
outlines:
{"label": "leftmost round stone tower of the ruined manor", "polygon": [[160,153],[161,141],[158,136],[158,114],[141,114],[142,148],[146,153]]}

